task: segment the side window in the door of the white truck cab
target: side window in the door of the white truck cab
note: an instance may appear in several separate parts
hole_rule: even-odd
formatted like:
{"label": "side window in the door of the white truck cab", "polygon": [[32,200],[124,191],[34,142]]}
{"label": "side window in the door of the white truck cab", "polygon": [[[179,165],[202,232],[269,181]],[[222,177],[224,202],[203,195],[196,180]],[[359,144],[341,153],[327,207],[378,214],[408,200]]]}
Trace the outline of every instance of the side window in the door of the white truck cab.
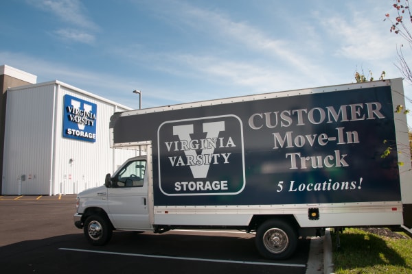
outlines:
{"label": "side window in the door of the white truck cab", "polygon": [[144,173],[146,160],[130,161],[124,166],[114,178],[115,186],[131,187],[144,186]]}

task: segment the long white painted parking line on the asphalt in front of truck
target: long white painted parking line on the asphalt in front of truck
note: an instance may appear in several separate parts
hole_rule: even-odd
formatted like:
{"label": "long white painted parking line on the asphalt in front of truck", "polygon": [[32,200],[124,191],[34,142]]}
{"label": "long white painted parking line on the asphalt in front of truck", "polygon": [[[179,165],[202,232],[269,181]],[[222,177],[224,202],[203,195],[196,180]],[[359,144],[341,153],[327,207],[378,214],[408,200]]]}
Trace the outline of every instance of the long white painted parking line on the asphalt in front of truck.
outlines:
{"label": "long white painted parking line on the asphalt in front of truck", "polygon": [[146,257],[146,258],[159,258],[159,259],[172,259],[172,260],[190,260],[190,261],[201,261],[201,262],[225,262],[229,264],[260,264],[268,266],[294,266],[294,267],[306,267],[306,264],[282,264],[277,262],[251,262],[251,261],[233,261],[233,260],[214,260],[214,259],[203,259],[203,258],[188,258],[188,257],[173,257],[173,256],[158,256],[158,255],[148,255],[148,254],[136,254],[136,253],[121,253],[121,252],[108,252],[108,251],[96,251],[87,249],[70,249],[61,247],[59,250],[66,251],[78,251],[78,252],[88,252],[88,253],[103,253],[111,255],[123,255],[123,256],[134,256],[134,257]]}

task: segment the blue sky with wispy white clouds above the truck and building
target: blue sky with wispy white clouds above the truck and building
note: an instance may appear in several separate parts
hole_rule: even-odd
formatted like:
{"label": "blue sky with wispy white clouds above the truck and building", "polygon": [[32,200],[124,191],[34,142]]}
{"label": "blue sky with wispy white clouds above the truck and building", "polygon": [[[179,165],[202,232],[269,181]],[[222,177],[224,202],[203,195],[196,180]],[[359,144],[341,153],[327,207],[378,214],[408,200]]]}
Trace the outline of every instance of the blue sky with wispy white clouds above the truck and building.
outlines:
{"label": "blue sky with wispy white clouds above the truck and building", "polygon": [[393,3],[3,1],[0,64],[132,108],[396,78]]}

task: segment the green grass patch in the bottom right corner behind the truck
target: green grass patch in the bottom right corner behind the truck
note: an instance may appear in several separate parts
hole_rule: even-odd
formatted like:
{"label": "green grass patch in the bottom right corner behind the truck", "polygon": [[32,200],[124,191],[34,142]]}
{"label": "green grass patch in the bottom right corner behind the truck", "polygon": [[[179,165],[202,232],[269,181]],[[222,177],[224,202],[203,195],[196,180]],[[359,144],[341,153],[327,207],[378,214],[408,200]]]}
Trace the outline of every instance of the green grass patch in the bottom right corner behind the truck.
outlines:
{"label": "green grass patch in the bottom right corner behind the truck", "polygon": [[412,273],[411,238],[379,236],[361,229],[345,229],[339,236],[341,247],[337,248],[336,233],[332,233],[336,274]]}

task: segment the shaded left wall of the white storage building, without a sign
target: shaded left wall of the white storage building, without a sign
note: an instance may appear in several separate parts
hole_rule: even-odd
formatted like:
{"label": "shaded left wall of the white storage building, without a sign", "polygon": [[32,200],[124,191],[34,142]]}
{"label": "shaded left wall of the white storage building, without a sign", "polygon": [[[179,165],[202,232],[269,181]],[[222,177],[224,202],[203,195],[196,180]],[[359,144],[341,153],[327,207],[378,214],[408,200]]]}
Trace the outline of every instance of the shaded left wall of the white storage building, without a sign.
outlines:
{"label": "shaded left wall of the white storage building, without a sign", "polygon": [[5,195],[48,194],[54,86],[7,95],[3,154]]}

